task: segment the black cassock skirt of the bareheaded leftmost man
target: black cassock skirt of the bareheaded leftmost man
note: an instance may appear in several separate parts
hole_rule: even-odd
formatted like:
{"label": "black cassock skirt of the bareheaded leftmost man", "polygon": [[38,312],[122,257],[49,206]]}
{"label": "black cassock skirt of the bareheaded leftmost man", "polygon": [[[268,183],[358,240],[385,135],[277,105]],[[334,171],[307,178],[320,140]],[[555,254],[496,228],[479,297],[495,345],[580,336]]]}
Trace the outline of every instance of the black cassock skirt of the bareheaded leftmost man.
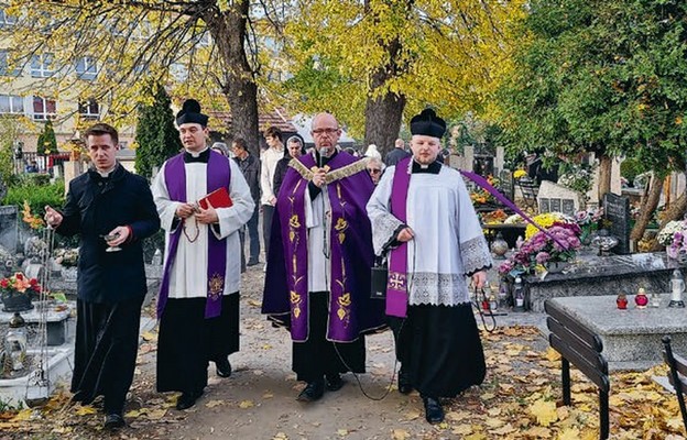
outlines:
{"label": "black cassock skirt of the bareheaded leftmost man", "polygon": [[106,414],[121,414],[133,381],[143,298],[115,304],[76,301],[73,399],[105,397]]}

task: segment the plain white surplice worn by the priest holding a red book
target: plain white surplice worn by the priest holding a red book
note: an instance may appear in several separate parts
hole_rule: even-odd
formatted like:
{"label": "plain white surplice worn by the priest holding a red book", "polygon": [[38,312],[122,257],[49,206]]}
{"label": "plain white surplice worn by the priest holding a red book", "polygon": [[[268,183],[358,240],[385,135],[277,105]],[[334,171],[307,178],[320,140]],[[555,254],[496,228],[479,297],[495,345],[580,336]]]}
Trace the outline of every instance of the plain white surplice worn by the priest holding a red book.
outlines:
{"label": "plain white surplice worn by the priest holding a red book", "polygon": [[[229,195],[233,206],[229,208],[216,208],[219,223],[210,228],[210,233],[217,239],[227,240],[227,264],[225,268],[223,295],[238,292],[241,277],[241,243],[239,229],[250,220],[253,215],[254,202],[250,188],[241,174],[238,165],[231,161],[231,182]],[[198,298],[207,296],[207,264],[208,264],[208,226],[196,222],[192,216],[185,222],[174,221],[176,208],[182,205],[170,200],[165,183],[165,165],[155,177],[152,190],[157,206],[157,213],[162,228],[165,230],[165,262],[168,257],[166,249],[170,234],[176,228],[182,231],[176,256],[172,264],[170,277],[170,298]],[[193,162],[184,164],[186,170],[186,199],[197,202],[205,197],[207,190],[207,164]]]}

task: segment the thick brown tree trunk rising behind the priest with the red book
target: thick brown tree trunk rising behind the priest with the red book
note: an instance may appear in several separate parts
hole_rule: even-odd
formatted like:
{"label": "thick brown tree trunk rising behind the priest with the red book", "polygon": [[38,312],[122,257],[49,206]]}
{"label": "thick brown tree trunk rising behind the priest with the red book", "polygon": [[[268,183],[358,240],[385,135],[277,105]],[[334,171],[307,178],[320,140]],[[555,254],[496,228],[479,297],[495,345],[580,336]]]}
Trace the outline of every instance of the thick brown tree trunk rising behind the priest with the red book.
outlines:
{"label": "thick brown tree trunk rising behind the priest with the red book", "polygon": [[223,67],[220,87],[231,108],[230,132],[243,138],[251,153],[259,157],[258,85],[244,50],[248,12],[249,2],[238,1],[221,13],[210,10],[204,20]]}

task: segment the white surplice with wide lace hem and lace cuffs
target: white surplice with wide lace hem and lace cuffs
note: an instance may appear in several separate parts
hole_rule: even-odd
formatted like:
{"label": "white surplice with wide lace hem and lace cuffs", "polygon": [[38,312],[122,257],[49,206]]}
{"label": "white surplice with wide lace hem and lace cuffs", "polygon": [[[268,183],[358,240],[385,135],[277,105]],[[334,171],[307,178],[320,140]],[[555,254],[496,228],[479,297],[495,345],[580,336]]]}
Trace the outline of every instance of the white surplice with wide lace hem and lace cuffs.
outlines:
{"label": "white surplice with wide lace hem and lace cuffs", "polygon": [[[367,206],[377,255],[403,224],[391,215],[394,172],[395,166],[386,168]],[[460,173],[448,166],[438,174],[413,173],[406,217],[415,234],[407,243],[408,304],[468,302],[466,276],[490,267],[492,260]]]}

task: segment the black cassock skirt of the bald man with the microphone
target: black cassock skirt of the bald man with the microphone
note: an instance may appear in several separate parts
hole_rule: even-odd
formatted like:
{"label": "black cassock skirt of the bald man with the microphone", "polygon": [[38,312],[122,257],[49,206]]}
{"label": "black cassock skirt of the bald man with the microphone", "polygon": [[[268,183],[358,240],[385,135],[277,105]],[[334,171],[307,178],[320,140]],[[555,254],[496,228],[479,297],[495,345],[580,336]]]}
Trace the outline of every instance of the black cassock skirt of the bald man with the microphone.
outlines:
{"label": "black cassock skirt of the bald man with the microphone", "polygon": [[293,371],[298,381],[313,382],[327,374],[349,371],[364,373],[364,337],[361,334],[353,342],[328,341],[329,293],[310,293],[308,301],[308,339],[293,343]]}

